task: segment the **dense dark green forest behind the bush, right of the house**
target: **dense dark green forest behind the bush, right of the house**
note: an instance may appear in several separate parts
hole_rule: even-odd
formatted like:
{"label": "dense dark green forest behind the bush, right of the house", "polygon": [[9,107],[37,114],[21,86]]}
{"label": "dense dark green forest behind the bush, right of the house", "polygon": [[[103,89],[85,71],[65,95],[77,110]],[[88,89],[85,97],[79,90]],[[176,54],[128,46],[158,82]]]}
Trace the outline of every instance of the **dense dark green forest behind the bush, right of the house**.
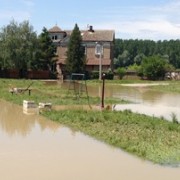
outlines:
{"label": "dense dark green forest behind the bush, right of the house", "polygon": [[114,66],[141,65],[143,58],[159,56],[174,68],[180,68],[180,40],[115,40]]}

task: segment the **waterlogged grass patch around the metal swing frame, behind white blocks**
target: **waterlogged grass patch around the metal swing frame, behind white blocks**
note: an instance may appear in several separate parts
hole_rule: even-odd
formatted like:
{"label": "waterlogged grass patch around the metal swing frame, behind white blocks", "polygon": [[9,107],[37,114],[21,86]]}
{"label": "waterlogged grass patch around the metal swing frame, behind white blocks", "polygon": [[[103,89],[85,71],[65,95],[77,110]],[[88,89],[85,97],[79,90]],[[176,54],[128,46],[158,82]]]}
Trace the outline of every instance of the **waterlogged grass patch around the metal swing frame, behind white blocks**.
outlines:
{"label": "waterlogged grass patch around the metal swing frame, behind white blocks", "polygon": [[[14,102],[22,105],[24,99],[33,100],[35,103],[50,102],[53,105],[82,105],[82,104],[100,104],[100,97],[89,97],[83,93],[81,97],[77,97],[73,91],[68,88],[62,88],[60,84],[47,85],[43,81],[34,80],[31,86],[32,93],[29,96],[28,92],[11,95],[9,89],[12,87],[26,88],[32,83],[32,80],[12,80],[0,79],[0,98],[7,101]],[[128,101],[119,100],[116,98],[108,97],[105,99],[106,104],[113,103],[127,103]]]}

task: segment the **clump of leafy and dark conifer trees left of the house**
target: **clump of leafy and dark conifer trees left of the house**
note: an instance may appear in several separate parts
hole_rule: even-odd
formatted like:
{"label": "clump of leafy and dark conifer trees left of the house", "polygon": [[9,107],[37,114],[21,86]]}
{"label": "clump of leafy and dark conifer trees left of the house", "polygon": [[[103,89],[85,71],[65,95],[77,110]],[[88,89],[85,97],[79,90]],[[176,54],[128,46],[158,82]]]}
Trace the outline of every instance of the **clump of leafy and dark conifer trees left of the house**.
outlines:
{"label": "clump of leafy and dark conifer trees left of the house", "polygon": [[[12,20],[0,30],[0,70],[53,70],[56,57],[47,29],[37,35],[29,21]],[[54,59],[53,59],[54,58]]]}

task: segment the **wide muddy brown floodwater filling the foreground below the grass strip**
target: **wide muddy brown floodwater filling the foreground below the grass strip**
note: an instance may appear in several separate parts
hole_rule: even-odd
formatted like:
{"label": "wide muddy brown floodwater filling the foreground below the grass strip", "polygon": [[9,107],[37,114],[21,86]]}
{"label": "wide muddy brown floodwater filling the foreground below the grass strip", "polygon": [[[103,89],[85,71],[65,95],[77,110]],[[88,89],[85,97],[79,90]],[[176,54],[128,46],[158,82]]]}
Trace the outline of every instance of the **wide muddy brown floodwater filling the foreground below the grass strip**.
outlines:
{"label": "wide muddy brown floodwater filling the foreground below the grass strip", "polygon": [[179,180],[162,167],[0,101],[2,180]]}

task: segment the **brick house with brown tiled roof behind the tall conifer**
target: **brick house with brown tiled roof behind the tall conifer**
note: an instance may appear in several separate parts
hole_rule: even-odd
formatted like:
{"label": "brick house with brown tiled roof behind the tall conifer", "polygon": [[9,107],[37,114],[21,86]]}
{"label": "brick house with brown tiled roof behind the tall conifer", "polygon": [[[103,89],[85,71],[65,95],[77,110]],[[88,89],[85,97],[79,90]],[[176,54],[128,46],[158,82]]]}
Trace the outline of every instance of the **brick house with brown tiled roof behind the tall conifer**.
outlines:
{"label": "brick house with brown tiled roof behind the tall conifer", "polygon": [[[70,30],[62,30],[58,26],[49,29],[49,34],[57,46],[57,72],[64,74],[67,45],[71,35]],[[102,62],[102,71],[112,69],[113,51],[114,51],[114,30],[94,30],[89,26],[87,30],[81,30],[82,45],[86,54],[86,70],[99,71],[100,59]]]}

